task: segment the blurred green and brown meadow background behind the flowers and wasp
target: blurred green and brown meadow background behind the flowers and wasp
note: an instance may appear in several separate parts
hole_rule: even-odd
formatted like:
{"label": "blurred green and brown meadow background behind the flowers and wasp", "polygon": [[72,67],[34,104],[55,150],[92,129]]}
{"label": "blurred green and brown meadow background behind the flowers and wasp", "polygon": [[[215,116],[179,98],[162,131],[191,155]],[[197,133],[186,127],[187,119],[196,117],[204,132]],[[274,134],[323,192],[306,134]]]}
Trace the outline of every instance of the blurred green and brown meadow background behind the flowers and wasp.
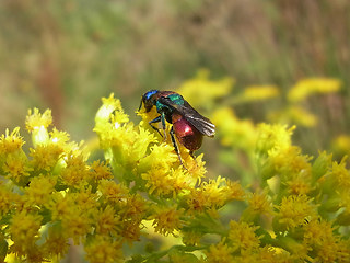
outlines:
{"label": "blurred green and brown meadow background behind the flowers and wasp", "polygon": [[294,138],[316,153],[350,127],[349,14],[347,0],[2,0],[0,130],[49,107],[59,129],[89,140],[102,96],[114,92],[138,122],[147,90],[176,90],[201,68],[234,78],[234,92],[278,87],[279,100],[234,107],[258,123],[299,80],[337,78],[340,92],[303,102],[319,122]]}

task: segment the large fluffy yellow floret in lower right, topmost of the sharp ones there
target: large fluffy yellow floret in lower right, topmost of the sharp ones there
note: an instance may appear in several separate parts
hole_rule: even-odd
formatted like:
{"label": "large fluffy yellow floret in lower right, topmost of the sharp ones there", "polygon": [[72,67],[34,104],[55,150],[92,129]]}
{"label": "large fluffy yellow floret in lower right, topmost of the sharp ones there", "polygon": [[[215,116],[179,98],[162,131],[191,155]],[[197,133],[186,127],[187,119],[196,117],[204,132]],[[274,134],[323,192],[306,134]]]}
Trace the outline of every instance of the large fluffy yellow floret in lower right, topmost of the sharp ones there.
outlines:
{"label": "large fluffy yellow floret in lower right, topmost of the sharp ones there", "polygon": [[277,230],[290,230],[305,224],[306,218],[316,217],[316,206],[306,195],[284,196],[280,205],[276,206]]}

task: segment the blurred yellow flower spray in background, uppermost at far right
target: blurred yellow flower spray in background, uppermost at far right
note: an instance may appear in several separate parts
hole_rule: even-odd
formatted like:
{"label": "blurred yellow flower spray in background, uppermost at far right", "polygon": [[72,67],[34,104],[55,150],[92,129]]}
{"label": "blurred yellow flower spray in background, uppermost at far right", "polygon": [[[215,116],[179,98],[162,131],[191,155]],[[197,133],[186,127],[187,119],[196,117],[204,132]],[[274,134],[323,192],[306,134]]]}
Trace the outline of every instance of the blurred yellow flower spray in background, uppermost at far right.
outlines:
{"label": "blurred yellow flower spray in background, uppermost at far right", "polygon": [[337,79],[310,78],[299,81],[289,90],[288,99],[300,102],[317,93],[332,93],[340,90],[341,82]]}

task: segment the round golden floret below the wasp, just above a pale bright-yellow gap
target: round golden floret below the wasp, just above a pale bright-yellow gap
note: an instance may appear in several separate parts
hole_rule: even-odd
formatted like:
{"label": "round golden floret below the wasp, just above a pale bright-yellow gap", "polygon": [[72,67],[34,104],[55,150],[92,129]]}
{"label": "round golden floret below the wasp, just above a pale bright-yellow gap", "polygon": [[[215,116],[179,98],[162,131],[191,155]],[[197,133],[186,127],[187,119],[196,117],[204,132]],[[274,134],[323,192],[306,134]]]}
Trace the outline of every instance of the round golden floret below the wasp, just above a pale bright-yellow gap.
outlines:
{"label": "round golden floret below the wasp, just above a pale bright-yellow gap", "polygon": [[150,219],[153,219],[152,226],[155,232],[167,236],[173,235],[174,231],[182,228],[180,216],[184,209],[177,209],[175,206],[172,207],[154,207],[154,214]]}

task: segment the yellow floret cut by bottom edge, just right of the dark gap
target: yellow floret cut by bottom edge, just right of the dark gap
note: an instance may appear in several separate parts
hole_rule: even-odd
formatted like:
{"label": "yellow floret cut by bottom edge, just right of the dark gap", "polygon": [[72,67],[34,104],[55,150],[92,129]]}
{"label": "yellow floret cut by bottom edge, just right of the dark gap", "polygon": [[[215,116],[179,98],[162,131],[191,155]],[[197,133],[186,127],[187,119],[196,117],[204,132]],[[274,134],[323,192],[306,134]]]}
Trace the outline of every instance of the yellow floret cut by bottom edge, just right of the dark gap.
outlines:
{"label": "yellow floret cut by bottom edge, just right of the dark gap", "polygon": [[86,260],[91,263],[124,262],[121,243],[107,237],[94,236],[84,245]]}

